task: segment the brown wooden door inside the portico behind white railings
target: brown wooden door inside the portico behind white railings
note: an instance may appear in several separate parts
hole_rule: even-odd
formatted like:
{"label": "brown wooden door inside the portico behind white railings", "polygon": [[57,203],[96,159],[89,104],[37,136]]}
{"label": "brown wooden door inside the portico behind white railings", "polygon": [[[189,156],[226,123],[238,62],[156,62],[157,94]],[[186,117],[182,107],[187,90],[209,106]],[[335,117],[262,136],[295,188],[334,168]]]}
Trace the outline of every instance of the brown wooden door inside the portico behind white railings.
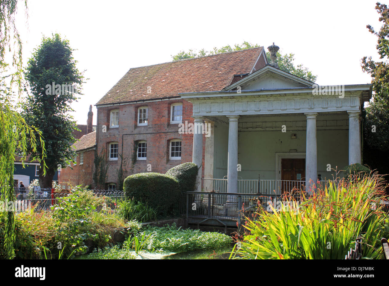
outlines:
{"label": "brown wooden door inside the portico behind white railings", "polygon": [[305,159],[281,159],[281,193],[300,190],[304,179]]}

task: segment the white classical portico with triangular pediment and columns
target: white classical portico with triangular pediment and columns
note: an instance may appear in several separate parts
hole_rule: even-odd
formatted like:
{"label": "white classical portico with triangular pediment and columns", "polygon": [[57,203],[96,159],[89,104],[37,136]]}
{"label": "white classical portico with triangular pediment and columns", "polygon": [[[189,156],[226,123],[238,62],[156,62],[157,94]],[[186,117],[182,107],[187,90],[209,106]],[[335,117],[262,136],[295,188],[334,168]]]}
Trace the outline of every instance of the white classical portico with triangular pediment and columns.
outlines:
{"label": "white classical portico with triangular pediment and columns", "polygon": [[[193,104],[195,123],[212,122],[204,177],[226,179],[229,193],[259,178],[300,181],[309,190],[318,179],[332,179],[336,167],[361,163],[360,114],[371,85],[324,87],[266,65],[222,91],[181,93]],[[198,165],[203,136],[193,137]],[[206,189],[201,174],[198,191]]]}

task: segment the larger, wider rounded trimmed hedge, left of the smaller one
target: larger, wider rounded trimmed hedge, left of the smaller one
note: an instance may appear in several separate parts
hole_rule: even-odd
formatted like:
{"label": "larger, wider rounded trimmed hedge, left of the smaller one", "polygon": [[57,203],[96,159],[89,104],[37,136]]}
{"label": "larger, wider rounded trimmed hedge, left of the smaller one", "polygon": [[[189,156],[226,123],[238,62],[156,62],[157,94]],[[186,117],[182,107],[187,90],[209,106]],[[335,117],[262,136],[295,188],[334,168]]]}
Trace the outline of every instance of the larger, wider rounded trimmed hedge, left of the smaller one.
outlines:
{"label": "larger, wider rounded trimmed hedge, left of the smaller one", "polygon": [[176,211],[180,201],[180,185],[172,176],[140,173],[126,177],[123,183],[126,197],[144,202],[159,215]]}

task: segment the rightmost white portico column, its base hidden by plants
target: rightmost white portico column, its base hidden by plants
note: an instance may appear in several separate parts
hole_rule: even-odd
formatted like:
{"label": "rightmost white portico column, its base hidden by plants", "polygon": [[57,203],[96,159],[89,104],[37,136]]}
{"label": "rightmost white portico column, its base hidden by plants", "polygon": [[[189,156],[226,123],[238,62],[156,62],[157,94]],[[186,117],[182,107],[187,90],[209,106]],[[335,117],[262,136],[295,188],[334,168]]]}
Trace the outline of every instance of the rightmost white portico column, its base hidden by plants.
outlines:
{"label": "rightmost white portico column, its base hidden by plants", "polygon": [[359,130],[359,111],[347,111],[349,114],[349,165],[361,164],[361,132]]}

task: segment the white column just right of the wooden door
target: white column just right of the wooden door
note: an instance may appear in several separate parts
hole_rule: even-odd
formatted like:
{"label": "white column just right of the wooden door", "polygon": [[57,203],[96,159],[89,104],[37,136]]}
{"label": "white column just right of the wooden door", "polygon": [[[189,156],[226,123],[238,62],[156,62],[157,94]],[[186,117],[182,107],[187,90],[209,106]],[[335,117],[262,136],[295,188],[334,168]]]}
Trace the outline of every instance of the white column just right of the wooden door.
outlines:
{"label": "white column just right of the wooden door", "polygon": [[307,144],[305,157],[305,186],[309,193],[314,192],[317,182],[317,142],[316,116],[317,112],[305,113],[307,116]]}

